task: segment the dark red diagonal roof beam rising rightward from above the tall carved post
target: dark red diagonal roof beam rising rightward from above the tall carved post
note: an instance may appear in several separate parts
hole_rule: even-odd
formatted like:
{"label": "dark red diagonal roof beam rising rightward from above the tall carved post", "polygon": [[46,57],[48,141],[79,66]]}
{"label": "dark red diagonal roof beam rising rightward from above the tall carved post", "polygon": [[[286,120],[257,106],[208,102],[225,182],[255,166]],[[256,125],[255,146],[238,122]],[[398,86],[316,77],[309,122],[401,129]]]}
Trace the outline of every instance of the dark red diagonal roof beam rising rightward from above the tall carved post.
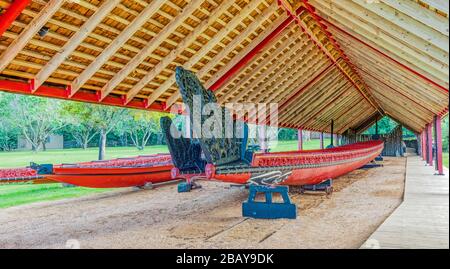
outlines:
{"label": "dark red diagonal roof beam rising rightward from above the tall carved post", "polygon": [[254,47],[244,58],[242,58],[235,66],[219,78],[209,89],[216,91],[220,89],[230,78],[232,78],[239,70],[245,67],[258,53],[260,53],[273,39],[275,39],[286,27],[293,22],[292,17],[288,17],[283,21],[272,33],[270,33],[261,43]]}

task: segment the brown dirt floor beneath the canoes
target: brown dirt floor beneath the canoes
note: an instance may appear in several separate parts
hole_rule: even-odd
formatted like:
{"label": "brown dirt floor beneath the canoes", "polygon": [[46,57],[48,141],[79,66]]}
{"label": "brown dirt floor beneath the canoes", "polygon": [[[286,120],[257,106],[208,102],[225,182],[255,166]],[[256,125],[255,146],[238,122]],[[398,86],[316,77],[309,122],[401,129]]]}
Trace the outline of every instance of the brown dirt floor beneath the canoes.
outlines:
{"label": "brown dirt floor beneath the canoes", "polygon": [[296,220],[243,218],[247,191],[218,182],[124,189],[0,210],[0,248],[359,248],[401,203],[406,158],[299,194]]}

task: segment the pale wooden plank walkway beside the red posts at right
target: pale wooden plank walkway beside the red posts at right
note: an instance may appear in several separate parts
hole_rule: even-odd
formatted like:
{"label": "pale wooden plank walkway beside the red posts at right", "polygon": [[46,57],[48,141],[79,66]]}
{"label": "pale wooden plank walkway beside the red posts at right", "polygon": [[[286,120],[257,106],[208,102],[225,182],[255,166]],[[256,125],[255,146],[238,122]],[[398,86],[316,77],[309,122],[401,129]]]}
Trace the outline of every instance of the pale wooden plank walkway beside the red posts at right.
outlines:
{"label": "pale wooden plank walkway beside the red posts at right", "polygon": [[436,176],[418,156],[407,160],[403,203],[361,248],[449,248],[449,171]]}

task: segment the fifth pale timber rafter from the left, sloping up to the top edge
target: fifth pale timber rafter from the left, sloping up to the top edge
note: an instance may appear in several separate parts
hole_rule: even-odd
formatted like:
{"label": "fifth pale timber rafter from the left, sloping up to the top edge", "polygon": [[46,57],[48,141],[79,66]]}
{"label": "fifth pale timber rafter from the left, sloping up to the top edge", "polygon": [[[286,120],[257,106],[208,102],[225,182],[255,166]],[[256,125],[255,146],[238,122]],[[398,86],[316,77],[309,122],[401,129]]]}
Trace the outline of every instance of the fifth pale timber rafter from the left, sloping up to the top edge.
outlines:
{"label": "fifth pale timber rafter from the left, sloping up to the top edge", "polygon": [[[156,78],[156,76],[161,73],[169,64],[171,64],[178,57],[178,55],[180,55],[188,46],[190,46],[191,43],[197,39],[198,35],[206,31],[208,27],[220,17],[220,15],[226,12],[233,5],[234,1],[224,1],[220,6],[214,9],[208,19],[202,21],[194,29],[194,31],[192,31],[178,44],[178,46],[174,50],[172,50],[166,57],[164,57],[164,59],[162,59],[156,66],[154,66],[152,70],[150,70],[136,85],[133,86],[133,88],[128,91],[125,102],[130,102],[145,87],[145,85]],[[159,97],[164,93],[164,91],[161,90],[160,86],[152,93],[152,99],[154,98],[154,96]],[[151,99],[149,98],[149,100]]]}

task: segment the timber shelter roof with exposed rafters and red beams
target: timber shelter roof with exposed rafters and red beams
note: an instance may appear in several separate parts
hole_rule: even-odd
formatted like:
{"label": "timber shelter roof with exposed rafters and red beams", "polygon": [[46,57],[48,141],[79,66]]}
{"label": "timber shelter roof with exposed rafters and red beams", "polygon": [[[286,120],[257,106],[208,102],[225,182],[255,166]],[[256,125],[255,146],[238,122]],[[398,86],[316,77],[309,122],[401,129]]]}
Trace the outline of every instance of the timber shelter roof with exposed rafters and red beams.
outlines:
{"label": "timber shelter roof with exposed rafters and red beams", "polygon": [[163,111],[182,65],[221,103],[278,103],[283,127],[419,132],[448,111],[447,1],[28,2],[0,31],[0,90]]}

